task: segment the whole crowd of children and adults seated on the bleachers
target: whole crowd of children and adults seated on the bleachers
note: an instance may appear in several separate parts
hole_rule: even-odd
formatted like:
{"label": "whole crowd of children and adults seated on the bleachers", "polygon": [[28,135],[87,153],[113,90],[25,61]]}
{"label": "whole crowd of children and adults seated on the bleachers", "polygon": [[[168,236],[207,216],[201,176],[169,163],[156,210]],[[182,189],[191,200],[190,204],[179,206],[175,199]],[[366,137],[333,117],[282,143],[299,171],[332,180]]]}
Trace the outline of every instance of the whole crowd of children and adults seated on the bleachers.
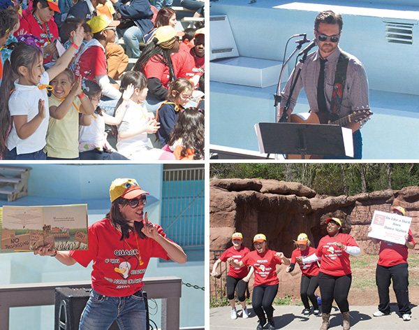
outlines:
{"label": "whole crowd of children and adults seated on the bleachers", "polygon": [[[142,19],[154,23],[124,17],[115,8],[130,4],[117,0],[86,8],[33,0],[0,10],[1,159],[203,159],[203,24],[176,31],[174,10],[140,2]],[[120,48],[118,34],[130,25],[147,45],[117,82],[109,45]]]}

